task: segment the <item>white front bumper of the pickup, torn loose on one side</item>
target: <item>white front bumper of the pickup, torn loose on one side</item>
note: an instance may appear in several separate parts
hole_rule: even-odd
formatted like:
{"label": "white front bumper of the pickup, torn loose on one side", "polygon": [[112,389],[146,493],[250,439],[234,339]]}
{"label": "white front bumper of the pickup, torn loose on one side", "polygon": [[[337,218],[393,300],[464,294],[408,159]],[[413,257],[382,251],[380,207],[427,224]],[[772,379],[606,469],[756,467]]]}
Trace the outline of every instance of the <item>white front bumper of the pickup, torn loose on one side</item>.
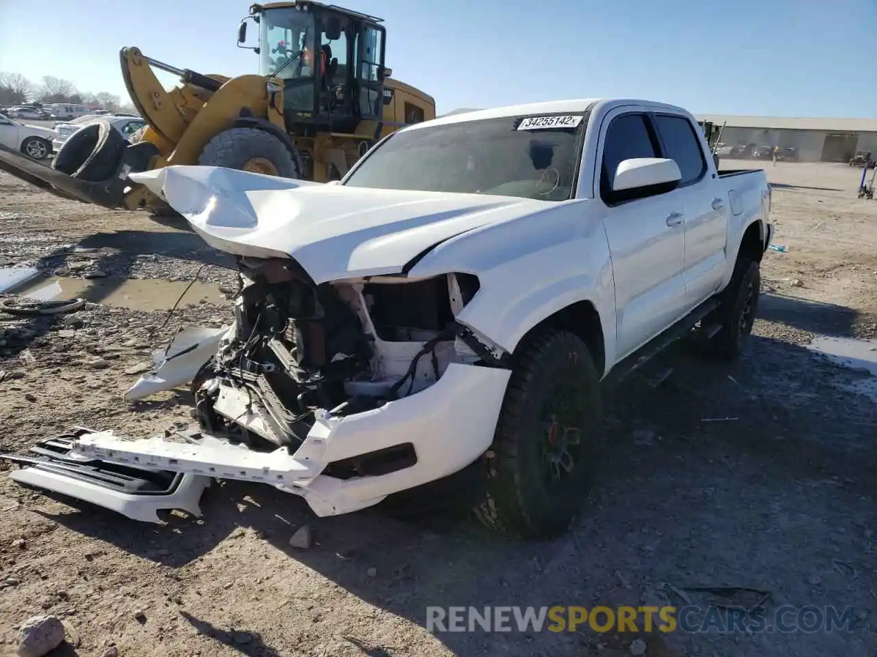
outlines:
{"label": "white front bumper of the pickup, torn loose on one side", "polygon": [[[380,408],[346,416],[319,412],[294,454],[287,449],[254,452],[211,436],[189,443],[162,436],[131,441],[111,432],[82,435],[75,440],[75,452],[132,469],[271,484],[305,498],[318,516],[338,515],[375,505],[391,493],[446,477],[473,463],[493,442],[509,377],[509,370],[450,364],[435,384]],[[416,463],[402,469],[346,479],[324,474],[332,463],[406,443],[413,446]],[[76,486],[69,488],[68,494],[81,497]],[[52,490],[66,492],[57,484]],[[89,501],[102,504],[98,498],[91,495]],[[154,515],[139,512],[136,506],[132,498],[109,508],[134,519]]]}

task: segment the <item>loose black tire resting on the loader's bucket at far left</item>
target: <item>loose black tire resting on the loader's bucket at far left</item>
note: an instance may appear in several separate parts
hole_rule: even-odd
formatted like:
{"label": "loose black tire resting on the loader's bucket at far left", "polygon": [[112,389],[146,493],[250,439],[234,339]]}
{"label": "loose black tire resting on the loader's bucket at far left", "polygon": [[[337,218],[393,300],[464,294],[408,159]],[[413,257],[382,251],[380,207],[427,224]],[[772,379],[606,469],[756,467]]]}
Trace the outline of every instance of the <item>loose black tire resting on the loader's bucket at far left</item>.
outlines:
{"label": "loose black tire resting on the loader's bucket at far left", "polygon": [[58,151],[53,169],[79,180],[103,182],[116,173],[128,142],[102,120],[75,131]]}

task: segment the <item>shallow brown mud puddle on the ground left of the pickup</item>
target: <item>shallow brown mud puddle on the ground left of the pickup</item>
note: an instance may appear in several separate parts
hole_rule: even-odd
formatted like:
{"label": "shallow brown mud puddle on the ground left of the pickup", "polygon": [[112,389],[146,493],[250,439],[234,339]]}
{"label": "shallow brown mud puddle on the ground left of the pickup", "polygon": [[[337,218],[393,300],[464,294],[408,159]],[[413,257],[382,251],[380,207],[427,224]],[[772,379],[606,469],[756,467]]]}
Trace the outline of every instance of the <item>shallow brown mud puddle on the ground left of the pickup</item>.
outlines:
{"label": "shallow brown mud puddle on the ground left of the pickup", "polygon": [[[132,310],[169,310],[189,286],[188,281],[160,279],[68,279],[54,276],[21,286],[14,293],[27,299],[56,301],[84,299],[107,306]],[[13,292],[13,290],[9,290]],[[187,304],[227,305],[225,294],[217,286],[196,281],[180,300]]]}

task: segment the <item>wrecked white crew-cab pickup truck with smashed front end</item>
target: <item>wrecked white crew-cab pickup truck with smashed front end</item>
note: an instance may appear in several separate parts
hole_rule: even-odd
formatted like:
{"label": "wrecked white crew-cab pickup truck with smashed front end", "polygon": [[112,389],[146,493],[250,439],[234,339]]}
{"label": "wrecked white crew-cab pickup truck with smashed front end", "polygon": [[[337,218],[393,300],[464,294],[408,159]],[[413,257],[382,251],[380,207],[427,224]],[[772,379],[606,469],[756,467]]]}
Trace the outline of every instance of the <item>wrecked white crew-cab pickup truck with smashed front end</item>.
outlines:
{"label": "wrecked white crew-cab pickup truck with smashed front end", "polygon": [[[13,477],[138,519],[198,512],[209,477],[325,516],[466,471],[489,526],[560,533],[595,472],[602,381],[695,331],[735,357],[773,233],[765,173],[718,172],[694,117],[640,100],[417,124],[337,185],[201,166],[136,180],[239,258],[234,325],[189,360],[200,429],[83,430],[52,449],[100,477],[62,481],[43,456]],[[132,486],[130,466],[165,478]]]}

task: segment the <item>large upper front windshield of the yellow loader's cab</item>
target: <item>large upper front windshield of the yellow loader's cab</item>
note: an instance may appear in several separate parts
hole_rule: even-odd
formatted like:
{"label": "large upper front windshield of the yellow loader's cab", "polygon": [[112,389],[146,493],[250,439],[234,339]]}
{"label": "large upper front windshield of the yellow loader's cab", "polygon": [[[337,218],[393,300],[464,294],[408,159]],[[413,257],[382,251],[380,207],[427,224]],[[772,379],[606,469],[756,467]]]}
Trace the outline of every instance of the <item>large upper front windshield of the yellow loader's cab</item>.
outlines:
{"label": "large upper front windshield of the yellow loader's cab", "polygon": [[263,11],[260,74],[296,80],[313,76],[314,17],[294,7]]}

